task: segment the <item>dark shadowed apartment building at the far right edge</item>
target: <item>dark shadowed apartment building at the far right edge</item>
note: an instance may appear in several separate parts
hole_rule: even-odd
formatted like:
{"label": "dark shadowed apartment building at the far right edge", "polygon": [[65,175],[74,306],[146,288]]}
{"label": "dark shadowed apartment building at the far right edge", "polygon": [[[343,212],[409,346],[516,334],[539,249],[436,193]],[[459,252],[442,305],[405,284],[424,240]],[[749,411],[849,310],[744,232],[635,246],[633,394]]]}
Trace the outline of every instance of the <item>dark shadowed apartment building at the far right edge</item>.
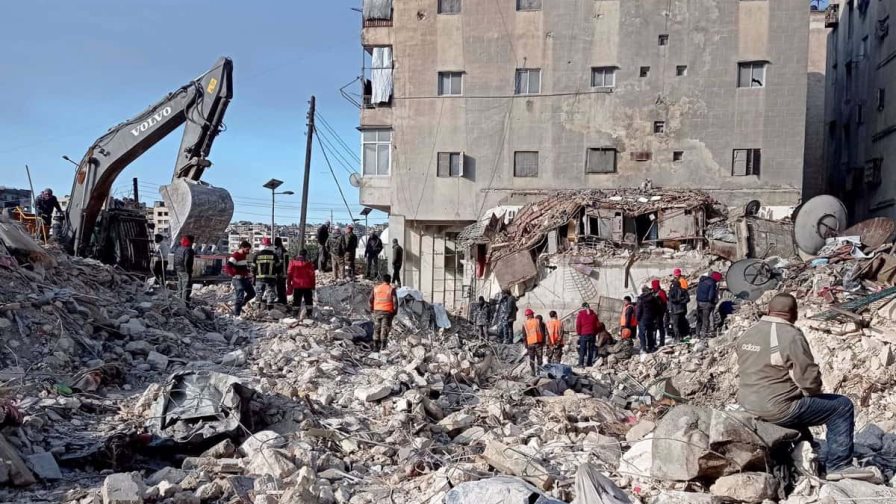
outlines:
{"label": "dark shadowed apartment building at the far right edge", "polygon": [[[832,0],[825,155],[853,221],[896,217],[896,0]],[[889,102],[889,103],[888,103]]]}

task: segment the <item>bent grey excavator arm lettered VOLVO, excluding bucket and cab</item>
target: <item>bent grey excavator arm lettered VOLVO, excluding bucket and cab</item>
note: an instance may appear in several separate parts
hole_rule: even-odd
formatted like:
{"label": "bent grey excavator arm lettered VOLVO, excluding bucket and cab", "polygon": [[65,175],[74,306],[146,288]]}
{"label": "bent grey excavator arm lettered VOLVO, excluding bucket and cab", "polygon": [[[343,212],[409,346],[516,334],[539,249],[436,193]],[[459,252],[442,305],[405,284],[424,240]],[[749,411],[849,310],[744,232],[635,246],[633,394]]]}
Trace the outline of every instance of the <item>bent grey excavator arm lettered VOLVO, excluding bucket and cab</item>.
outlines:
{"label": "bent grey excavator arm lettered VOLVO, excluding bucket and cab", "polygon": [[[208,72],[94,142],[78,165],[66,209],[63,239],[75,253],[83,254],[90,244],[97,218],[118,175],[183,124],[186,126],[172,180],[199,181],[211,166],[207,156],[233,96],[232,75],[233,63],[221,58]],[[232,213],[232,202],[229,206]]]}

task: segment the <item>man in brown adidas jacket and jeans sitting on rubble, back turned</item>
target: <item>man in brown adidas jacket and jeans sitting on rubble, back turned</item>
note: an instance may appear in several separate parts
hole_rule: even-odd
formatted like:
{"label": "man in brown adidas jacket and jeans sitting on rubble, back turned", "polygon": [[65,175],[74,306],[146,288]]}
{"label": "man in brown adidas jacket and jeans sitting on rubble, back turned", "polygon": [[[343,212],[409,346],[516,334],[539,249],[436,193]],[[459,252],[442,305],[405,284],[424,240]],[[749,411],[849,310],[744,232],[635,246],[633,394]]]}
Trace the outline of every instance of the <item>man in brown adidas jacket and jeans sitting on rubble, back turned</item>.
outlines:
{"label": "man in brown adidas jacket and jeans sitting on rubble, back turned", "polygon": [[796,299],[778,294],[762,317],[737,341],[738,402],[761,420],[798,430],[811,439],[809,427],[827,427],[827,479],[871,476],[852,466],[852,401],[823,394],[821,373],[797,320]]}

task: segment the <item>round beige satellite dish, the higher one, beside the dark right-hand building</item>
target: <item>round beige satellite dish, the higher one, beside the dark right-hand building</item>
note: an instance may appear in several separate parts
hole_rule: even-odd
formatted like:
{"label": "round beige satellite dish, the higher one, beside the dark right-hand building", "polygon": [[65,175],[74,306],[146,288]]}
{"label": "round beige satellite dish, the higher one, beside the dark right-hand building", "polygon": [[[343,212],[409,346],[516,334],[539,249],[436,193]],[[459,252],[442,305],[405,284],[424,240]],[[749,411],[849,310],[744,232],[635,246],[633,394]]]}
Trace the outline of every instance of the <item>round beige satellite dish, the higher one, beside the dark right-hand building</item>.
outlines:
{"label": "round beige satellite dish, the higher one, beside the dark right-hand building", "polygon": [[796,246],[807,254],[815,254],[828,238],[840,236],[846,229],[846,207],[829,195],[816,196],[797,210],[793,222]]}

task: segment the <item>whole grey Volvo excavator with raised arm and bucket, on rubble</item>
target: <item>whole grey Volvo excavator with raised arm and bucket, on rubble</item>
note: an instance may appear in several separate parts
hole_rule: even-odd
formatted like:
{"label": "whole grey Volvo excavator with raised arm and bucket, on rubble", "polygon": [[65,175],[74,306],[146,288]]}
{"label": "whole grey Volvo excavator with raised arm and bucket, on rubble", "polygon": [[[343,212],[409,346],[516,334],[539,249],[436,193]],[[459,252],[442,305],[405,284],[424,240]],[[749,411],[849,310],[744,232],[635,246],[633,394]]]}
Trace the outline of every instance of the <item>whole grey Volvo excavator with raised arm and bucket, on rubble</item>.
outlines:
{"label": "whole grey Volvo excavator with raised arm and bucket, on rubble", "polygon": [[61,241],[79,256],[96,257],[129,270],[149,270],[149,237],[142,212],[112,208],[109,192],[118,175],[178,126],[185,124],[171,183],[159,193],[171,219],[170,238],[193,235],[213,243],[233,216],[233,200],[200,179],[223,128],[233,97],[233,63],[219,59],[193,81],[138,116],[111,128],[87,150],[75,174]]}

